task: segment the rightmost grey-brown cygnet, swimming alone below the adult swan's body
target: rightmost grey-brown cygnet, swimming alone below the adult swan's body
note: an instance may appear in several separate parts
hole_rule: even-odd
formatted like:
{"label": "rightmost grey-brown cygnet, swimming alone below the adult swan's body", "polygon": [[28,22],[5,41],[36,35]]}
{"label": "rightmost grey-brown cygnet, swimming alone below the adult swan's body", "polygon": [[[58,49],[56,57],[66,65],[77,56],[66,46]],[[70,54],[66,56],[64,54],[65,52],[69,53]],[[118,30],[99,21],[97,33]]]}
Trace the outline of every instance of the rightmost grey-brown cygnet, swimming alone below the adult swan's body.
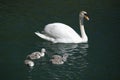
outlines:
{"label": "rightmost grey-brown cygnet, swimming alone below the adult swan's body", "polygon": [[52,64],[64,64],[65,61],[67,61],[68,54],[64,54],[63,57],[60,55],[53,55],[53,59],[50,59]]}

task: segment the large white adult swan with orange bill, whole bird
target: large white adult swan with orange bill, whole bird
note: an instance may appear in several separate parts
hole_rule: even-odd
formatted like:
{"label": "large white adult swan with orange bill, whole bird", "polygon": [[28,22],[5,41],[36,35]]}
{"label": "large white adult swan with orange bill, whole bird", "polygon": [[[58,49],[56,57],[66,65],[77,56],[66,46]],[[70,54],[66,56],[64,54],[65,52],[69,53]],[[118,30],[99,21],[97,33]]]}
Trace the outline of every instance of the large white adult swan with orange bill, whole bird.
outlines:
{"label": "large white adult swan with orange bill, whole bird", "polygon": [[37,31],[35,32],[35,34],[53,43],[87,43],[88,37],[85,33],[83,25],[84,18],[89,20],[86,14],[86,11],[81,11],[79,14],[81,36],[77,32],[75,32],[70,26],[58,22],[46,25],[42,33]]}

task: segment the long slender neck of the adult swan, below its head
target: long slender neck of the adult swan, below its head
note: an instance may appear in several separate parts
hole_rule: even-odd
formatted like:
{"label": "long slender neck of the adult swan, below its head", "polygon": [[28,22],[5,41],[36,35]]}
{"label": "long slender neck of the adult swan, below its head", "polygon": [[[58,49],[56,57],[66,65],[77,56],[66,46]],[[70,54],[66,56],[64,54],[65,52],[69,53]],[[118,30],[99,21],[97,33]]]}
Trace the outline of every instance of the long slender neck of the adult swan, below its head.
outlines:
{"label": "long slender neck of the adult swan, below its head", "polygon": [[84,28],[84,24],[83,24],[83,22],[84,22],[84,17],[83,16],[80,16],[79,17],[80,19],[80,31],[81,31],[81,38],[82,38],[82,41],[83,42],[87,42],[88,41],[88,37],[87,37],[87,35],[86,35],[86,33],[85,33],[85,28]]}

